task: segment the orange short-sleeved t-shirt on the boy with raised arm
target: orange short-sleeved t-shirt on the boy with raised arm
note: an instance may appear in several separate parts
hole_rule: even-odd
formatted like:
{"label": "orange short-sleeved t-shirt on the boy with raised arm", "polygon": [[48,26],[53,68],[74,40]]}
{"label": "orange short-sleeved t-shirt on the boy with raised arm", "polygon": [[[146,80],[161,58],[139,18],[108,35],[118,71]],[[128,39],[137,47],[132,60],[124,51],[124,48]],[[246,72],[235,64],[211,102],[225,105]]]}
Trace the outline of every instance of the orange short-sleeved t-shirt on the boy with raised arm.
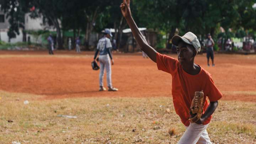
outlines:
{"label": "orange short-sleeved t-shirt on the boy with raised arm", "polygon": [[[209,106],[206,96],[209,98],[210,102],[218,101],[222,97],[222,93],[214,85],[212,80],[212,75],[206,70],[201,68],[199,74],[190,75],[186,73],[177,59],[169,57],[167,55],[162,55],[160,53],[156,54],[156,64],[159,70],[165,71],[172,75],[172,97],[174,108],[178,116],[181,118],[181,122],[185,126],[189,126],[190,122],[190,106],[194,98],[195,91],[204,92],[204,107],[203,113]],[[208,124],[210,122],[210,116],[203,124]]]}

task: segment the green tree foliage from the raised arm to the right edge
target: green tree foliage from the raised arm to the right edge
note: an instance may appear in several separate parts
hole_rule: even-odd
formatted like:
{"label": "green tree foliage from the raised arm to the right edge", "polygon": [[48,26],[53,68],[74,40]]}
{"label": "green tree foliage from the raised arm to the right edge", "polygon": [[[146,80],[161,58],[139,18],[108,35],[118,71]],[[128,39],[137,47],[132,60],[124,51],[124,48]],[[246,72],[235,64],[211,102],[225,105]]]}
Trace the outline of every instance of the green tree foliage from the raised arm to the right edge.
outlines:
{"label": "green tree foliage from the raised arm to the right edge", "polygon": [[[169,33],[170,40],[179,29],[181,35],[192,31],[197,35],[215,34],[221,25],[228,30],[255,27],[255,0],[134,0],[138,15],[149,28]],[[239,22],[240,21],[240,22]],[[242,21],[242,22],[241,22]],[[248,23],[250,22],[250,23]]]}

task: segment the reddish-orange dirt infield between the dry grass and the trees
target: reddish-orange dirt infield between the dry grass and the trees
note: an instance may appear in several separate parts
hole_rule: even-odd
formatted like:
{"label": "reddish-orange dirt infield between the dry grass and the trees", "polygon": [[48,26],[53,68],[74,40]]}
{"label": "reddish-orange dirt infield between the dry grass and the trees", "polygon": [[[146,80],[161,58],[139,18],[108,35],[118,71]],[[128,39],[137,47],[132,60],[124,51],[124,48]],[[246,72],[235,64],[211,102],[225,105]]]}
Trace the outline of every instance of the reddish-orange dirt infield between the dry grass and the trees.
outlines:
{"label": "reddish-orange dirt infield between the dry grass and the trees", "polygon": [[[91,69],[93,52],[56,51],[50,56],[47,51],[0,51],[0,90],[45,95],[44,99],[171,96],[171,75],[159,71],[150,59],[140,53],[113,57],[112,83],[119,91],[99,92],[99,71]],[[215,67],[198,55],[196,63],[212,74],[222,100],[256,102],[256,55],[216,54]]]}

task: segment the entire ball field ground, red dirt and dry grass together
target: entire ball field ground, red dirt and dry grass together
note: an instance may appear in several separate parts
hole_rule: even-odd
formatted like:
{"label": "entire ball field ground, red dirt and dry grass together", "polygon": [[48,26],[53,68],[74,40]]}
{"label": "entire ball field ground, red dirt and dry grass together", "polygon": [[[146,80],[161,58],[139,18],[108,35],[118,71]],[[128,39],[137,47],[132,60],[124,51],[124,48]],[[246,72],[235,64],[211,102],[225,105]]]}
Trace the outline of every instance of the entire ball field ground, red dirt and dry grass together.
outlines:
{"label": "entire ball field ground, red dirt and dry grass together", "polygon": [[[256,56],[216,56],[215,68],[203,55],[197,59],[224,94],[209,137],[214,144],[256,144]],[[97,91],[92,53],[0,52],[0,144],[177,143],[185,126],[174,111],[170,75],[138,54],[114,58],[120,91],[113,93]]]}

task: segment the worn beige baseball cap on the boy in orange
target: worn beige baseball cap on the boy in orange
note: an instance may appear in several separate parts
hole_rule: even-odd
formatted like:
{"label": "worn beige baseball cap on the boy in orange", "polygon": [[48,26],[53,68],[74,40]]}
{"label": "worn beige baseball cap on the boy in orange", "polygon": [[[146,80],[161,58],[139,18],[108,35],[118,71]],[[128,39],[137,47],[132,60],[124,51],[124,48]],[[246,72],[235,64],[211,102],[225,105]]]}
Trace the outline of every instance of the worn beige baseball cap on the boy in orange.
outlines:
{"label": "worn beige baseball cap on the boy in orange", "polygon": [[172,44],[174,44],[175,46],[178,46],[178,42],[182,40],[183,42],[187,43],[187,44],[191,44],[197,52],[200,52],[201,50],[201,44],[197,39],[197,36],[195,34],[193,34],[192,32],[187,32],[184,36],[178,36],[175,35],[174,37],[172,37]]}

